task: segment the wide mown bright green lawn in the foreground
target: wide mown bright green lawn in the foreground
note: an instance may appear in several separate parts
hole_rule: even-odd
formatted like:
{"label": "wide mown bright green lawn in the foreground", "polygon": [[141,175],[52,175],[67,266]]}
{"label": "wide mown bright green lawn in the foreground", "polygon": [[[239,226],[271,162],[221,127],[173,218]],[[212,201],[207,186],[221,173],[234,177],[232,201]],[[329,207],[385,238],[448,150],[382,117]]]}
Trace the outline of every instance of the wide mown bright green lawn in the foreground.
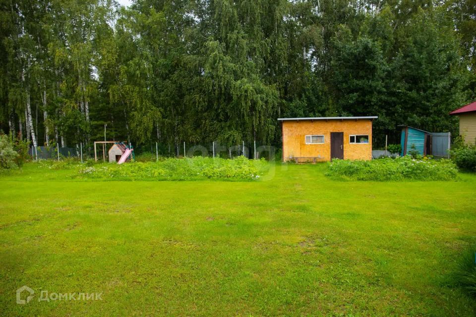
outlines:
{"label": "wide mown bright green lawn in the foreground", "polygon": [[99,182],[33,165],[0,176],[1,316],[476,314],[451,280],[476,243],[474,174],[339,182],[317,164],[253,182]]}

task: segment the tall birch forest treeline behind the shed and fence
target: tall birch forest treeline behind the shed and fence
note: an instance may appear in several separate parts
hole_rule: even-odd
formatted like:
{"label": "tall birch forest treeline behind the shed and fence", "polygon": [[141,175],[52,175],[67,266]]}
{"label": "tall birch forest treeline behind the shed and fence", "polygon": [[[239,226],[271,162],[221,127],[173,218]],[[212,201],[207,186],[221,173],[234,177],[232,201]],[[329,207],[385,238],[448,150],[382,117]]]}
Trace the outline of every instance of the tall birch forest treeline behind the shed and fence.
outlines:
{"label": "tall birch forest treeline behind the shed and fence", "polygon": [[[32,145],[242,140],[278,117],[457,133],[476,0],[0,0],[0,129]],[[174,151],[174,150],[172,150]]]}

